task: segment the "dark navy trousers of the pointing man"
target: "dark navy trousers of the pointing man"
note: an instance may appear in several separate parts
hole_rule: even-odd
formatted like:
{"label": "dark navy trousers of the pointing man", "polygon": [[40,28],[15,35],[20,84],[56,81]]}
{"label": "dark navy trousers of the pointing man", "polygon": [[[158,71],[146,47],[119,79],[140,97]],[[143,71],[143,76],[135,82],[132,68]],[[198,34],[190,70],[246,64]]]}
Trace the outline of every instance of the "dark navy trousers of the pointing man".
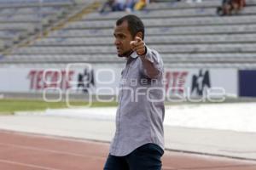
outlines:
{"label": "dark navy trousers of the pointing man", "polygon": [[108,156],[104,170],[160,170],[164,150],[156,144],[144,144],[127,156]]}

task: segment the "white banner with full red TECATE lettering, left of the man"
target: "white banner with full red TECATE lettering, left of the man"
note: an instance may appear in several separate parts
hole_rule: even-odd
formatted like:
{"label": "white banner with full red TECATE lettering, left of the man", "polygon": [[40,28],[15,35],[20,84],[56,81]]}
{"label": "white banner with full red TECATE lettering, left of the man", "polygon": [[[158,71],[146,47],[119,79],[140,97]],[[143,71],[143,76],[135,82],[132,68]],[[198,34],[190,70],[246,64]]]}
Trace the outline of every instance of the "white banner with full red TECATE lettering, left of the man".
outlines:
{"label": "white banner with full red TECATE lettering, left of the man", "polygon": [[54,68],[0,68],[0,92],[115,94],[121,69],[87,64]]}

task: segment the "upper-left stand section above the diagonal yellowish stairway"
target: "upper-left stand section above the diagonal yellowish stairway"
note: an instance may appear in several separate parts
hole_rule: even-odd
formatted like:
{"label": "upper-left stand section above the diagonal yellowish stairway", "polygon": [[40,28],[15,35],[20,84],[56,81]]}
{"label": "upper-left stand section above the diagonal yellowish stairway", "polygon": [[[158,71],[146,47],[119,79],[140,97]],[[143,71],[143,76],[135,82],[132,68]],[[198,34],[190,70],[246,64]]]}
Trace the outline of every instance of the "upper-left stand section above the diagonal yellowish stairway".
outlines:
{"label": "upper-left stand section above the diagonal yellowish stairway", "polygon": [[[9,48],[67,14],[71,1],[0,1],[0,39],[2,49]],[[1,49],[1,48],[0,48]]]}

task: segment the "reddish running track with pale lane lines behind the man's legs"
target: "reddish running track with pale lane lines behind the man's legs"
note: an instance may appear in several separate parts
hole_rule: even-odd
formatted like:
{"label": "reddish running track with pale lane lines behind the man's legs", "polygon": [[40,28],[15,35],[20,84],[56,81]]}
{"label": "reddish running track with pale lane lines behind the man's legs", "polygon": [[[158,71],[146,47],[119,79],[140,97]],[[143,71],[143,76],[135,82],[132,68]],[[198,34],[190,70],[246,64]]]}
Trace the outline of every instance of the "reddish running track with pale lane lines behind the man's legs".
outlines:
{"label": "reddish running track with pale lane lines behind the man's legs", "polygon": [[[101,170],[109,144],[0,130],[1,170]],[[166,151],[163,170],[256,170],[255,161]]]}

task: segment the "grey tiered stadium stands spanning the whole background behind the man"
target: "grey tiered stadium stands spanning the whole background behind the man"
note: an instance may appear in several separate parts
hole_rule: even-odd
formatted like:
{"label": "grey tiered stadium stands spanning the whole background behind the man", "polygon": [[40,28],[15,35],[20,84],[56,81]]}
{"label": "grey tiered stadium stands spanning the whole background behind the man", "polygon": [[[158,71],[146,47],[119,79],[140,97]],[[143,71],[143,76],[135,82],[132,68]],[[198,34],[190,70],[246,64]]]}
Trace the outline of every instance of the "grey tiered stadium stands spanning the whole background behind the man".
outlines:
{"label": "grey tiered stadium stands spanning the whole background behind the man", "polygon": [[[99,14],[98,4],[46,1],[39,14],[38,3],[28,4],[29,8],[23,3],[0,3],[0,63],[123,63],[115,57],[113,26],[127,13]],[[220,4],[220,0],[164,1],[133,14],[143,19],[146,42],[160,51],[166,65],[255,67],[256,0],[247,0],[240,14],[224,17],[216,14]],[[64,24],[56,25],[63,18]],[[40,20],[50,29],[32,39],[40,31]],[[17,41],[22,38],[25,43]]]}

